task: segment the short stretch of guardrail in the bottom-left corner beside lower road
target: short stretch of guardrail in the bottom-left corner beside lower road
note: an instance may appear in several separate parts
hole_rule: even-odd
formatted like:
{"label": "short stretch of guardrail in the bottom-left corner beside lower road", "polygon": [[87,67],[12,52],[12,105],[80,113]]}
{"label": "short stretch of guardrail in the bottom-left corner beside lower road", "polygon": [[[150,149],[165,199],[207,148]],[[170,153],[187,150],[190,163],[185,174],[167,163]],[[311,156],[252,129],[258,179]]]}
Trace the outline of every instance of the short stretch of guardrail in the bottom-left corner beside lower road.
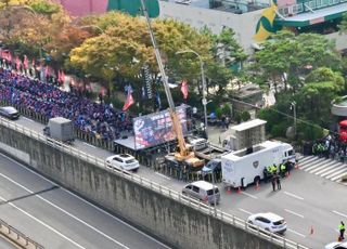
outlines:
{"label": "short stretch of guardrail in the bottom-left corner beside lower road", "polygon": [[21,248],[44,249],[43,246],[34,241],[31,238],[27,237],[25,234],[12,227],[1,219],[0,219],[0,233],[4,235],[7,238],[9,238],[10,240],[12,240],[13,243],[21,246]]}

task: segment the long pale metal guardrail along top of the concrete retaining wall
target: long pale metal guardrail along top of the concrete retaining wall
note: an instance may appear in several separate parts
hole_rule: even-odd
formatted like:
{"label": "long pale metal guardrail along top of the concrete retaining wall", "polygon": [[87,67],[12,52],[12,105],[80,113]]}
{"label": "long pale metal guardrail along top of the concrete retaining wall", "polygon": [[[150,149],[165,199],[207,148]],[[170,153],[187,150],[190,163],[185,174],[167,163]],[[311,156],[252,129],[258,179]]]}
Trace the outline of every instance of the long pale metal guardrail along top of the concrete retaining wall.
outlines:
{"label": "long pale metal guardrail along top of the concrete retaining wall", "polygon": [[178,193],[176,191],[171,191],[171,189],[169,189],[165,186],[162,186],[155,182],[146,180],[138,174],[133,174],[133,173],[123,171],[123,170],[112,169],[112,168],[107,167],[105,160],[102,160],[102,159],[97,158],[94,156],[90,156],[83,152],[78,150],[77,148],[74,148],[70,145],[61,143],[60,141],[53,140],[51,137],[48,139],[46,135],[38,133],[38,132],[35,132],[35,131],[31,131],[31,130],[24,128],[23,126],[20,126],[15,122],[0,118],[0,124],[8,127],[12,130],[18,131],[25,135],[28,135],[33,139],[38,140],[38,141],[41,141],[52,147],[55,147],[60,150],[63,150],[63,152],[68,153],[73,156],[76,156],[85,161],[94,163],[98,167],[105,168],[107,171],[112,171],[118,175],[121,175],[123,178],[128,179],[129,181],[132,181],[134,183],[138,183],[138,184],[142,185],[143,187],[155,191],[155,192],[157,192],[162,195],[165,195],[171,199],[178,200],[179,202],[181,202],[183,205],[195,208],[196,210],[204,212],[208,215],[213,215],[216,219],[219,219],[223,222],[227,222],[229,224],[233,224],[234,226],[243,228],[243,230],[247,231],[248,233],[255,234],[255,235],[260,236],[271,243],[274,243],[279,246],[282,246],[283,248],[308,249],[307,247],[301,246],[298,243],[290,240],[283,236],[267,232],[258,226],[248,224],[245,220],[236,218],[233,214],[226,213],[226,212],[217,209],[216,207],[213,207],[210,205],[206,205],[205,202],[192,199],[188,196],[183,196],[181,193]]}

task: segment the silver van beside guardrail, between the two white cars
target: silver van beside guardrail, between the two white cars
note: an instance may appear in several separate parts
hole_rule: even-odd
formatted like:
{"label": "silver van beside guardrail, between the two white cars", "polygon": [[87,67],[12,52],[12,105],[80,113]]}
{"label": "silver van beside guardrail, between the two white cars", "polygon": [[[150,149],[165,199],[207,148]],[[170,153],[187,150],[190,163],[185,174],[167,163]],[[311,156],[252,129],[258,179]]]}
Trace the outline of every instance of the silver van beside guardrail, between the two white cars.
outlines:
{"label": "silver van beside guardrail, between the two white cars", "polygon": [[209,182],[197,181],[185,185],[182,189],[183,195],[196,198],[198,200],[207,201],[209,204],[219,204],[220,193],[218,187]]}

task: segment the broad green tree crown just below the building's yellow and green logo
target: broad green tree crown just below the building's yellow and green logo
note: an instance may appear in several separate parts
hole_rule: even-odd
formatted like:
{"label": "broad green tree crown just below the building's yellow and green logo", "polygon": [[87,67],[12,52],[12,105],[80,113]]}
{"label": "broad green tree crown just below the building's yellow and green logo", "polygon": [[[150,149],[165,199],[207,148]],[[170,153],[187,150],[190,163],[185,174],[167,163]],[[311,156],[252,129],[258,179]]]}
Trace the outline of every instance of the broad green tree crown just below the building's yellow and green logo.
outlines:
{"label": "broad green tree crown just below the building's yellow and green logo", "polygon": [[318,67],[329,65],[339,69],[340,56],[335,52],[335,44],[324,36],[318,34],[300,34],[295,36],[290,31],[281,31],[266,41],[264,49],[256,52],[256,63],[253,70],[255,81],[266,81],[277,86],[284,83],[297,91],[301,87],[301,77]]}

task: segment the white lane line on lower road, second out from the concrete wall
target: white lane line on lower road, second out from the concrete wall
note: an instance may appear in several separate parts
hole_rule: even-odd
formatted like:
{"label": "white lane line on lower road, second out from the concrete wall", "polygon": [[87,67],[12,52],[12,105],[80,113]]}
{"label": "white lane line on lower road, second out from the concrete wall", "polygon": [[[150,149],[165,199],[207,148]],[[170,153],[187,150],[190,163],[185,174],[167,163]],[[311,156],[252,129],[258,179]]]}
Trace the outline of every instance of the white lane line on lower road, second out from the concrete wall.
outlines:
{"label": "white lane line on lower road, second out from the concrete wall", "polygon": [[[16,181],[10,179],[9,176],[7,176],[7,175],[4,175],[4,174],[2,174],[2,173],[0,173],[0,175],[1,175],[2,178],[7,179],[8,181],[12,182],[13,184],[15,184],[15,185],[22,187],[23,189],[27,191],[28,193],[35,194],[33,191],[30,191],[29,188],[23,186],[22,184],[17,183]],[[41,197],[41,196],[39,196],[39,195],[36,195],[36,197],[39,198],[39,199],[41,199],[41,200],[43,200],[44,202],[51,205],[52,207],[56,208],[57,210],[60,210],[61,212],[65,213],[66,215],[75,219],[76,221],[80,222],[81,224],[88,226],[89,228],[93,230],[94,232],[99,233],[100,235],[108,238],[110,240],[114,241],[114,243],[117,244],[118,246],[120,246],[120,247],[123,247],[123,248],[126,248],[126,249],[129,249],[126,245],[124,245],[124,244],[119,243],[118,240],[112,238],[111,236],[106,235],[105,233],[101,232],[100,230],[97,230],[97,228],[93,227],[92,225],[90,225],[90,224],[88,224],[87,222],[82,221],[81,219],[75,217],[74,214],[67,212],[66,210],[64,210],[64,209],[62,209],[61,207],[56,206],[55,204],[49,201],[48,199],[44,199],[43,197]]]}

